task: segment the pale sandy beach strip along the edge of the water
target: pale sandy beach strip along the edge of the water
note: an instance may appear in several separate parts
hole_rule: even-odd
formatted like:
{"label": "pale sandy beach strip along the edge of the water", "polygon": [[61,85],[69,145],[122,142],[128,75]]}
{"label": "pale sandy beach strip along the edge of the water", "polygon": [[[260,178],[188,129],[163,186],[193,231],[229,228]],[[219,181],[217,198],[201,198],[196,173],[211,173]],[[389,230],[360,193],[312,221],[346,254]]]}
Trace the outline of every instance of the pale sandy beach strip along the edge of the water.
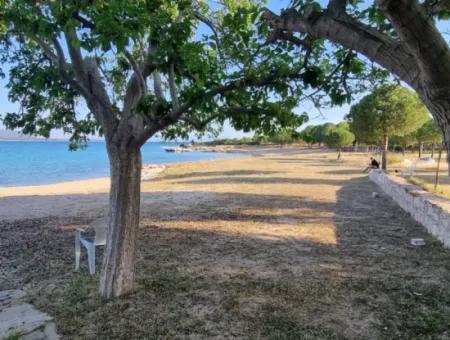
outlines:
{"label": "pale sandy beach strip along the edge of the water", "polygon": [[[220,148],[219,148],[220,149]],[[249,158],[264,154],[289,154],[303,152],[303,148],[279,146],[236,147],[227,150],[239,153],[237,158]],[[169,173],[191,168],[209,168],[216,164],[233,164],[234,159],[195,161],[165,165],[144,164],[142,170],[142,193],[157,190],[157,186],[148,183],[151,179],[162,176],[166,168]],[[100,177],[78,181],[60,182],[45,185],[0,187],[0,221],[45,216],[79,216],[87,214],[96,216],[104,213],[106,194],[109,193],[109,177]],[[98,211],[101,211],[100,213]]]}

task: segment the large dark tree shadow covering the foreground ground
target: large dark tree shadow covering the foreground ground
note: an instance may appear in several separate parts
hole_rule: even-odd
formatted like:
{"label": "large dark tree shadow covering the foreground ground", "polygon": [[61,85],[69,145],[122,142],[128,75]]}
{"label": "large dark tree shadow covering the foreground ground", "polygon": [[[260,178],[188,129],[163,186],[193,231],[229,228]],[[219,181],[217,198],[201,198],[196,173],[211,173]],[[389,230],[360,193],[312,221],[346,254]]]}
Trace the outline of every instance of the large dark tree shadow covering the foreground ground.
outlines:
{"label": "large dark tree shadow covering the foreground ground", "polygon": [[[111,301],[96,297],[97,277],[87,276],[85,258],[81,273],[72,272],[73,231],[61,224],[83,219],[2,222],[0,258],[10,279],[2,288],[27,285],[69,338],[445,338],[449,251],[388,197],[373,199],[379,190],[367,178],[340,184],[336,203],[240,193],[143,195],[148,217],[139,231],[137,290]],[[236,229],[254,209],[300,209],[279,216],[296,219],[297,237],[208,227],[226,216]],[[304,237],[302,209],[313,219],[330,216],[336,244]],[[161,225],[186,220],[204,223]],[[425,237],[427,245],[414,248],[411,237]]]}

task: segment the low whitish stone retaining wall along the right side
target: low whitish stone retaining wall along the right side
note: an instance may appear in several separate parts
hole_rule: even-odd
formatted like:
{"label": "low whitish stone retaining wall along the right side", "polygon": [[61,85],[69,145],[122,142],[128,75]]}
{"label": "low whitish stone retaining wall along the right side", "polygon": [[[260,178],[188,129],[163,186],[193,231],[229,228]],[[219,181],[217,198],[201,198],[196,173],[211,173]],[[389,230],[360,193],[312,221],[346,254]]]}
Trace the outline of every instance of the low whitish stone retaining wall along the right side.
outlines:
{"label": "low whitish stone retaining wall along the right side", "polygon": [[450,201],[437,197],[399,176],[372,170],[369,178],[428,231],[450,248]]}

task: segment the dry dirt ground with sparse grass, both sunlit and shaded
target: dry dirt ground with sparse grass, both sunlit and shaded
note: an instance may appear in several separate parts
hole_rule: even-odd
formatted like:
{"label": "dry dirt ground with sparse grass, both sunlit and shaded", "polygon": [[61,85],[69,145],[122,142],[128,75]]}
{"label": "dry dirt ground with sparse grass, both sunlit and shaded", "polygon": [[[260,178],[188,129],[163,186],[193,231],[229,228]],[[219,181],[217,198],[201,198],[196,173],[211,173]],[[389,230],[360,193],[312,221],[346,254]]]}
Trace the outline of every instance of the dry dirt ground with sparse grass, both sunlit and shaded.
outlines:
{"label": "dry dirt ground with sparse grass, both sunlit and shaded", "polygon": [[[0,198],[0,289],[25,287],[67,339],[449,339],[450,250],[372,198],[367,155],[335,158],[169,166],[143,183],[136,291],[111,301],[85,257],[73,271],[73,229],[106,194]],[[20,202],[34,218],[7,218]]]}

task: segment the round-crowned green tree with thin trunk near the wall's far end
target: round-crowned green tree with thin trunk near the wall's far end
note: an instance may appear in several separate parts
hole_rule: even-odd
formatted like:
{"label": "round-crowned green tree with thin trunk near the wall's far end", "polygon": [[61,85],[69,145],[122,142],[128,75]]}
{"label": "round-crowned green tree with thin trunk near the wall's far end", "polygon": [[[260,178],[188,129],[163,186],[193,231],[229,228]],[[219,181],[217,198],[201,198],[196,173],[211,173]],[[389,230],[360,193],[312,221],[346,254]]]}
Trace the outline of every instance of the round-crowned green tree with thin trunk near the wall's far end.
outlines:
{"label": "round-crowned green tree with thin trunk near the wall's far end", "polygon": [[353,105],[346,116],[358,140],[369,139],[383,146],[382,168],[387,170],[390,136],[404,136],[427,119],[428,112],[411,90],[399,85],[383,85]]}

